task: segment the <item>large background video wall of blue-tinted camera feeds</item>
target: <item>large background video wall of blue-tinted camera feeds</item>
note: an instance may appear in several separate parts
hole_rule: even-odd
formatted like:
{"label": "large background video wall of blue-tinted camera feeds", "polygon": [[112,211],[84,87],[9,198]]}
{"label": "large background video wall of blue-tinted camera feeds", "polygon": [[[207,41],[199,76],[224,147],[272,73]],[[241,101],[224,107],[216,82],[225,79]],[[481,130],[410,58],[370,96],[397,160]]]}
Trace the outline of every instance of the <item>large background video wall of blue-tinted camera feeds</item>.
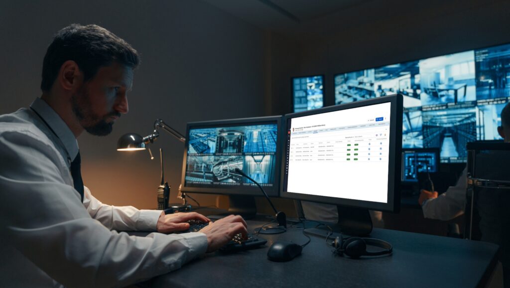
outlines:
{"label": "large background video wall of blue-tinted camera feeds", "polygon": [[394,93],[404,95],[402,148],[440,148],[441,162],[465,162],[467,142],[501,139],[510,44],[335,76],[335,104]]}

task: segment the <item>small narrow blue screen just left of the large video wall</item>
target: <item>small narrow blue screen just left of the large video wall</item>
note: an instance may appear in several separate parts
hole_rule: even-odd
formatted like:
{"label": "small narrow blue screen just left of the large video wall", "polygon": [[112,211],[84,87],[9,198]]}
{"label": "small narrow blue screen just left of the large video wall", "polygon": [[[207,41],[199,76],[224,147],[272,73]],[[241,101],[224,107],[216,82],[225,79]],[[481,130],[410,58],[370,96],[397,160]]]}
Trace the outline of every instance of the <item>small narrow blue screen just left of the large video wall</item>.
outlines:
{"label": "small narrow blue screen just left of the large video wall", "polygon": [[322,76],[297,77],[292,80],[294,112],[321,108],[323,105]]}

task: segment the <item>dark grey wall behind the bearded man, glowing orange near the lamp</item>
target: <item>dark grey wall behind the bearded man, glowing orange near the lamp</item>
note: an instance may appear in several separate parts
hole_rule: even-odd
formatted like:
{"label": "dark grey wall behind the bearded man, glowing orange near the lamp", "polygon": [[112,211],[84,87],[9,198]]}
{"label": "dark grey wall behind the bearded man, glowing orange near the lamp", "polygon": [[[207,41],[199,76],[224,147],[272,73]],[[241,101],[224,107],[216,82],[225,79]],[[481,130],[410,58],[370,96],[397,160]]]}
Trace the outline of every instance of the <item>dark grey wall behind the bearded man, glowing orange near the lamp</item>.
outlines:
{"label": "dark grey wall behind the bearded man, glowing orange near the lamp", "polygon": [[[186,123],[264,116],[265,34],[199,1],[0,2],[0,114],[39,97],[42,59],[52,36],[70,23],[95,23],[141,54],[130,112],[107,137],[79,137],[85,185],[113,205],[156,207],[159,157],[115,151],[120,135],[147,135],[156,118],[185,132]],[[166,177],[176,202],[183,144],[162,131],[152,153],[164,149]],[[197,195],[202,205],[216,197]]]}

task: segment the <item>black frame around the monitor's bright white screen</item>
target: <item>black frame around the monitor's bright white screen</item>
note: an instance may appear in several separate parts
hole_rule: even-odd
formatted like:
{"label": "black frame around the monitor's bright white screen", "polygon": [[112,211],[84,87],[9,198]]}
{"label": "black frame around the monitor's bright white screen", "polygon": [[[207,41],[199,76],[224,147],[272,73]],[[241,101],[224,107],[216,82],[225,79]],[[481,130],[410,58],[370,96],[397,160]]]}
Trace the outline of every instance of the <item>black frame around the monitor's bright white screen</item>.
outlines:
{"label": "black frame around the monitor's bright white screen", "polygon": [[[294,200],[304,200],[304,201],[312,201],[318,203],[326,203],[326,204],[334,204],[340,206],[354,207],[354,208],[362,208],[362,209],[370,209],[370,210],[378,210],[378,211],[389,211],[389,212],[398,212],[400,210],[400,165],[402,156],[402,109],[403,109],[403,99],[401,94],[388,95],[385,97],[372,98],[362,101],[356,101],[346,104],[340,104],[335,106],[328,106],[324,108],[319,108],[315,110],[302,111],[296,113],[286,114],[284,118],[284,124],[282,126],[282,133],[286,134],[289,130],[288,122],[289,119],[309,116],[314,114],[321,114],[333,111],[340,111],[352,108],[358,108],[363,106],[381,104],[381,103],[391,103],[390,110],[390,119],[395,119],[394,121],[390,121],[390,135],[394,135],[394,137],[390,136],[390,145],[389,145],[389,177],[388,177],[388,202],[387,203],[379,203],[372,201],[364,201],[364,200],[353,200],[346,198],[336,198],[336,197],[326,197],[326,196],[316,196],[316,195],[307,195],[301,193],[292,193],[289,191],[285,191],[285,166],[287,160],[287,150],[288,150],[288,141],[285,140],[285,150],[282,154],[282,171],[281,171],[281,186],[280,186],[280,196],[282,198],[294,199]],[[287,139],[287,135],[285,135],[285,139]],[[393,171],[393,173],[392,173]],[[391,175],[393,174],[393,175]]]}

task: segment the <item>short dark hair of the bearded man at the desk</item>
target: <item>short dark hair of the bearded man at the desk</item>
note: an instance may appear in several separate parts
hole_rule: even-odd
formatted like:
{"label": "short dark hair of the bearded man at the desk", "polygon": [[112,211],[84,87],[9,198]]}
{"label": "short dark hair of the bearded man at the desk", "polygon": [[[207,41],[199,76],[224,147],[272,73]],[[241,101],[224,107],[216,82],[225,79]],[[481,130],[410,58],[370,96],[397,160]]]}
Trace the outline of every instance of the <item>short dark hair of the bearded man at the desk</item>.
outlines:
{"label": "short dark hair of the bearded man at the desk", "polygon": [[65,61],[78,64],[84,81],[92,79],[100,67],[114,61],[136,68],[140,60],[133,47],[112,32],[97,25],[71,24],[55,35],[42,64],[41,90],[49,91]]}

